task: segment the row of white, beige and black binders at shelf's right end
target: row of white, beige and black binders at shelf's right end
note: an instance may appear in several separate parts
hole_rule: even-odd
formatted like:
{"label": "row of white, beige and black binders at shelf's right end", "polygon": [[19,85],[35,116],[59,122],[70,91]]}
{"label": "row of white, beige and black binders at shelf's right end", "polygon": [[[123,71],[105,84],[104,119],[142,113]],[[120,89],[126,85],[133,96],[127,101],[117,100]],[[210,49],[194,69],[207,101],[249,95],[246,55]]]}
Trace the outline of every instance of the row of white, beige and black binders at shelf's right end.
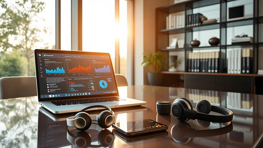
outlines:
{"label": "row of white, beige and black binders at shelf's right end", "polygon": [[234,49],[228,51],[227,54],[227,73],[252,73],[253,50],[249,48]]}

